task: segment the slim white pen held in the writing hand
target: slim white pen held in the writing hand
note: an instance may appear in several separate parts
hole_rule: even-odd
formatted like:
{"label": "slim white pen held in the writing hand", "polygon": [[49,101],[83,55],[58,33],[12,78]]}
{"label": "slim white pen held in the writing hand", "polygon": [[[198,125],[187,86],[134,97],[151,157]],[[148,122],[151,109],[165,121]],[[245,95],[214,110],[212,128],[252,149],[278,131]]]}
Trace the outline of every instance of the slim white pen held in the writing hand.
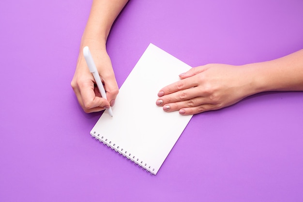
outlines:
{"label": "slim white pen held in the writing hand", "polygon": [[[104,98],[104,99],[107,100],[105,89],[103,87],[101,78],[99,76],[99,73],[98,73],[98,70],[96,68],[96,65],[95,65],[95,63],[94,63],[94,61],[92,59],[91,52],[90,52],[90,49],[89,49],[88,46],[85,46],[83,48],[83,55],[84,55],[85,61],[87,63],[87,66],[89,66],[90,72],[92,73],[93,78],[96,81],[97,87],[99,88],[99,91],[101,93],[102,98]],[[108,108],[108,113],[109,113],[109,115],[113,116],[113,112],[112,112],[110,106]]]}

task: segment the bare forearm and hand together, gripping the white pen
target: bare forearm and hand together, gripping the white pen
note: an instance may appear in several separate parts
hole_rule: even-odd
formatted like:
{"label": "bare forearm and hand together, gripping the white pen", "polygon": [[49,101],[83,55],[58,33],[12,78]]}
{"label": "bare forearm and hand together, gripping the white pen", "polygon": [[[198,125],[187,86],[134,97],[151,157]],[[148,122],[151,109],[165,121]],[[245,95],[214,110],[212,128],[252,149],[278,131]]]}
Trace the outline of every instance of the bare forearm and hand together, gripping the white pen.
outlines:
{"label": "bare forearm and hand together, gripping the white pen", "polygon": [[[71,82],[77,100],[86,113],[102,111],[113,106],[119,88],[106,52],[106,40],[115,21],[127,0],[93,0],[91,12],[84,29],[76,71]],[[104,83],[107,100],[102,98],[95,86],[83,56],[83,48],[89,46],[97,70]]]}

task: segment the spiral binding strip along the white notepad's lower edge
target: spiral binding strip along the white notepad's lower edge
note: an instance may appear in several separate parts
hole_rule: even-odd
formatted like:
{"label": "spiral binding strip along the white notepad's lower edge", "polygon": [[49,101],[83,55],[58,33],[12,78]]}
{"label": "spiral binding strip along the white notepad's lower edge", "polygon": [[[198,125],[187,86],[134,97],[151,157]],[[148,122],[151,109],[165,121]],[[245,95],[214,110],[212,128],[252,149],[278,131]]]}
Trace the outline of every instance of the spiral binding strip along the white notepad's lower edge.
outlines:
{"label": "spiral binding strip along the white notepad's lower edge", "polygon": [[112,143],[110,140],[106,139],[104,136],[101,136],[100,134],[97,134],[96,131],[91,133],[91,137],[94,137],[96,140],[99,140],[99,142],[102,142],[103,144],[106,144],[107,147],[111,147],[111,149],[114,149],[115,152],[118,152],[123,157],[126,157],[127,159],[131,160],[135,164],[137,164],[139,167],[142,167],[142,169],[145,169],[146,172],[150,172],[151,174],[154,173],[154,168],[152,169],[151,166],[149,166],[147,163],[143,162],[140,159],[136,159],[135,156],[132,156],[131,153],[128,153],[127,151],[124,151],[123,148],[120,148],[120,146]]}

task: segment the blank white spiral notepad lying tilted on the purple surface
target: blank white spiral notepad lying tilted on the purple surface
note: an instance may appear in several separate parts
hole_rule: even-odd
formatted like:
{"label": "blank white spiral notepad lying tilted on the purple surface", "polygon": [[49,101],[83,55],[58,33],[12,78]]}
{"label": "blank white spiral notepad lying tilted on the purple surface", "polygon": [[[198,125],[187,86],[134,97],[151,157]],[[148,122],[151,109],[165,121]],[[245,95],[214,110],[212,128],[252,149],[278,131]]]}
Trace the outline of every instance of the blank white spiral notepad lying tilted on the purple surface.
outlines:
{"label": "blank white spiral notepad lying tilted on the purple surface", "polygon": [[164,112],[157,94],[190,68],[151,43],[121,86],[113,116],[105,111],[91,136],[156,174],[192,117]]}

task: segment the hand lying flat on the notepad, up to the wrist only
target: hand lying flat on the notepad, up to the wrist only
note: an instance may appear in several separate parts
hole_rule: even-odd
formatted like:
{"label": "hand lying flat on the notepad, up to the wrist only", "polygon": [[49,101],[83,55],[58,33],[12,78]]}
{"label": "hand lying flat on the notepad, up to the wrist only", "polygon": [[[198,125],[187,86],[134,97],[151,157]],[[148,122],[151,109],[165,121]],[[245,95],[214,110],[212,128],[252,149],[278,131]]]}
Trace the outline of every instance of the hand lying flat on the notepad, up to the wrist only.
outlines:
{"label": "hand lying flat on the notepad, up to the wrist only", "polygon": [[180,74],[180,81],[162,88],[156,105],[166,112],[194,115],[232,105],[255,93],[252,69],[208,64]]}

